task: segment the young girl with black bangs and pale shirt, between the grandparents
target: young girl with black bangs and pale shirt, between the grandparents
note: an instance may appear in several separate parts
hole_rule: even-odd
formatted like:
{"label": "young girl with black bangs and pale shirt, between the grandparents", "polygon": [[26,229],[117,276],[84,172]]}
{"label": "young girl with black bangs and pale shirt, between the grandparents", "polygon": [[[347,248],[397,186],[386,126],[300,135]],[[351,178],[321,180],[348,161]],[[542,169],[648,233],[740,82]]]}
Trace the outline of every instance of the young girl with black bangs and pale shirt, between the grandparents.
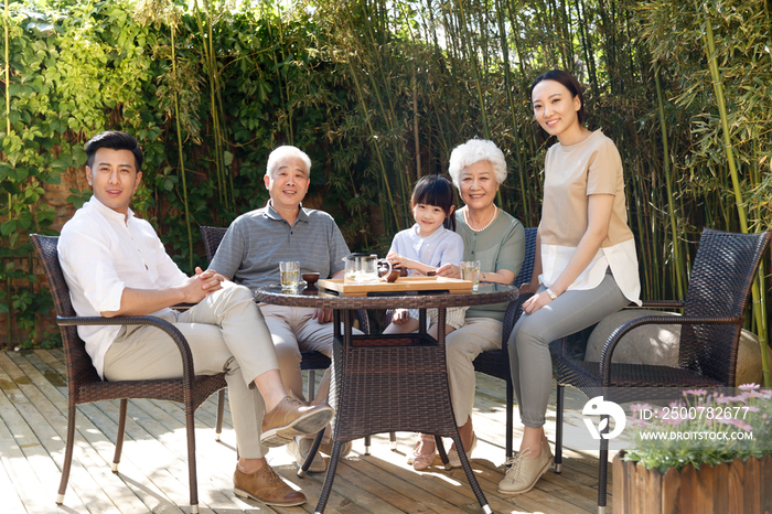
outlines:
{"label": "young girl with black bangs and pale shirt, between the grandparents", "polygon": [[[393,266],[407,268],[410,275],[427,275],[444,264],[458,266],[463,257],[463,239],[455,229],[453,184],[443,175],[426,175],[412,190],[412,217],[416,224],[401,231],[392,242],[386,258]],[[465,308],[448,309],[446,334],[463,326]],[[437,309],[427,312],[429,334],[437,338]],[[396,309],[385,333],[418,330],[418,309]]]}

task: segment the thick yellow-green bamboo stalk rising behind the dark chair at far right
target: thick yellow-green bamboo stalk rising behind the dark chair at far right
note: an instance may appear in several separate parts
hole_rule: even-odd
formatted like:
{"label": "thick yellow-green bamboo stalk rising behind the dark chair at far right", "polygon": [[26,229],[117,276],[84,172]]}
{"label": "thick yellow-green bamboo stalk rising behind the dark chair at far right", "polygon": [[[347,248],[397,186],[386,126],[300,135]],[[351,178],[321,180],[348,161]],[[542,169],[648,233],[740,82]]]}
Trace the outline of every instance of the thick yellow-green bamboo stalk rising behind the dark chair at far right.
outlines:
{"label": "thick yellow-green bamboo stalk rising behind the dark chair at far right", "polygon": [[[718,60],[716,57],[716,41],[714,39],[714,29],[710,21],[710,13],[707,9],[705,12],[705,42],[706,51],[708,53],[708,65],[710,68],[710,76],[712,78],[714,90],[716,92],[716,103],[718,104],[718,111],[721,117],[721,130],[723,132],[723,151],[729,163],[729,173],[732,179],[732,190],[735,192],[735,205],[737,206],[738,217],[740,219],[740,231],[743,234],[748,234],[748,219],[746,217],[746,206],[742,200],[742,190],[740,188],[740,179],[737,172],[737,164],[735,163],[735,152],[731,143],[731,135],[729,132],[729,117],[727,115],[727,105],[723,98],[723,85],[721,83],[721,76],[718,71]],[[761,345],[761,370],[764,377],[764,387],[772,386],[772,381],[770,379],[770,365],[766,356],[766,326],[761,320],[765,318],[765,313],[762,312],[762,300],[760,291],[763,290],[762,283],[763,277],[757,275],[753,281],[753,287],[751,293],[753,297],[753,315],[757,320],[757,331],[759,332],[759,343]]]}

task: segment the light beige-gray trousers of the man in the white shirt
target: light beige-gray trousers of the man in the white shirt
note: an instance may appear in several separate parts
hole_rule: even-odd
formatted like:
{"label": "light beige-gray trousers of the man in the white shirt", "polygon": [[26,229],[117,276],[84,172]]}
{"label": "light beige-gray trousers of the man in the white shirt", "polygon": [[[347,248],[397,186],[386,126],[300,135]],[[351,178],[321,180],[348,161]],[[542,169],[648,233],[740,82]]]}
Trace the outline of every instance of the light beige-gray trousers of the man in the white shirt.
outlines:
{"label": "light beige-gray trousers of the man in the white shirt", "polygon": [[[279,370],[270,332],[249,289],[223,282],[223,289],[185,312],[163,317],[187,340],[193,366],[200,375],[225,372],[238,453],[259,459],[260,426],[266,405],[255,378]],[[127,325],[105,355],[105,378],[139,381],[182,376],[176,344],[163,331],[148,325]]]}

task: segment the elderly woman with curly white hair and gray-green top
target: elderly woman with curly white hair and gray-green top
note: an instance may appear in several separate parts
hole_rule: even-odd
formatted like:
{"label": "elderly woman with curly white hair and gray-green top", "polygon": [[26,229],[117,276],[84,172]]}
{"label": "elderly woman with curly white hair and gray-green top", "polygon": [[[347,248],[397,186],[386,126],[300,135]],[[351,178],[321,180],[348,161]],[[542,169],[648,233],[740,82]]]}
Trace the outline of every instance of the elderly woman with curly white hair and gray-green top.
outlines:
{"label": "elderly woman with curly white hair and gray-green top", "polygon": [[[525,256],[525,229],[493,203],[506,179],[504,153],[492,141],[471,139],[453,149],[449,172],[465,204],[455,212],[455,232],[464,243],[463,259],[480,261],[481,280],[512,283]],[[440,267],[437,274],[461,278],[459,267],[450,264]],[[475,387],[472,361],[486,350],[501,349],[506,307],[497,303],[470,308],[464,325],[446,338],[450,396],[467,454],[476,445],[472,428]],[[426,469],[435,460],[435,452],[432,436],[421,435],[408,462],[416,470]],[[453,468],[461,468],[454,447],[448,457]]]}

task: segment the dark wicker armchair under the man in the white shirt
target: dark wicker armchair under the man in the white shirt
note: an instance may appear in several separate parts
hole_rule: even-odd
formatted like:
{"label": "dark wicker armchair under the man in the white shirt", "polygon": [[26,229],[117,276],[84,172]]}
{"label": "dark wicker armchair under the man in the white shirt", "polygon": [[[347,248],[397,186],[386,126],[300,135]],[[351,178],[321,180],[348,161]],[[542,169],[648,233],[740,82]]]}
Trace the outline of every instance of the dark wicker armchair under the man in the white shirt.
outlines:
{"label": "dark wicker armchair under the man in the white shirt", "polygon": [[[62,481],[58,488],[56,503],[64,502],[64,493],[69,479],[69,467],[73,461],[73,447],[75,443],[75,416],[77,406],[92,401],[106,399],[120,399],[120,417],[118,420],[118,433],[116,435],[116,452],[112,460],[112,472],[118,472],[120,452],[124,446],[124,432],[126,429],[126,409],[128,398],[168,399],[179,401],[185,406],[185,427],[187,430],[187,469],[191,493],[191,512],[199,512],[199,490],[195,468],[195,410],[210,396],[221,392],[221,403],[217,409],[217,428],[219,435],[223,427],[222,393],[226,387],[225,374],[204,376],[193,374],[193,355],[182,333],[171,323],[151,315],[81,318],[75,315],[69,301],[69,289],[64,280],[58,263],[56,245],[58,237],[30,236],[32,246],[45,269],[49,279],[51,295],[56,306],[56,323],[62,330],[64,355],[67,368],[67,443],[62,468]],[[163,381],[122,381],[107,382],[99,378],[90,356],[86,353],[84,341],[77,334],[77,325],[97,324],[149,324],[163,330],[176,343],[182,358],[182,378]]]}

